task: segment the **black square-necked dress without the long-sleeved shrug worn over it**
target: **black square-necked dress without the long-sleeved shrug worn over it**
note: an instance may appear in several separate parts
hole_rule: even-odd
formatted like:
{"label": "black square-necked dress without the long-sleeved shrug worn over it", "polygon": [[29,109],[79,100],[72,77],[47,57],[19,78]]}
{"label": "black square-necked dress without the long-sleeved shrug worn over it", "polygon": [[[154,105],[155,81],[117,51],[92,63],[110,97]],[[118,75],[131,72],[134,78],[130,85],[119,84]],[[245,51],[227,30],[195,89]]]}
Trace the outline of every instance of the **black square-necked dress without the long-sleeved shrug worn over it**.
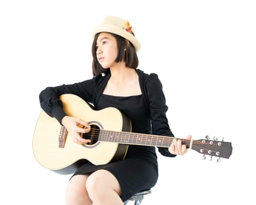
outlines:
{"label": "black square-necked dress without the long-sleeved shrug worn over it", "polygon": [[[147,108],[144,106],[142,95],[131,97],[115,97],[102,94],[99,97],[98,108],[115,107],[123,112],[132,122],[132,132],[150,131],[150,121]],[[134,193],[149,189],[157,183],[158,166],[155,147],[129,145],[124,160],[107,165],[92,165],[86,163],[78,168],[74,175],[81,175],[105,169],[118,180],[122,190],[122,200],[125,201]],[[74,176],[73,175],[73,176]]]}

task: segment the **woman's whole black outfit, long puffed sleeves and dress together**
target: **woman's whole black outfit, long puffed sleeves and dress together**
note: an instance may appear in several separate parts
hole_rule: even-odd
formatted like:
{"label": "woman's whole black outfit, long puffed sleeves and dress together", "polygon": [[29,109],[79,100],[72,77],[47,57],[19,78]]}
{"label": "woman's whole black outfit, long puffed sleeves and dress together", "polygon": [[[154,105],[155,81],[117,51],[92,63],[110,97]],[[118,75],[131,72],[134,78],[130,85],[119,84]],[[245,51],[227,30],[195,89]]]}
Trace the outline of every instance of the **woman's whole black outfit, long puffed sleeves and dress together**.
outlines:
{"label": "woman's whole black outfit, long puffed sleeves and dress together", "polygon": [[[67,93],[75,94],[94,104],[96,109],[118,108],[131,119],[132,132],[174,136],[168,125],[166,117],[168,107],[157,74],[146,74],[138,69],[136,71],[141,95],[115,97],[102,94],[111,76],[111,73],[108,73],[80,83],[45,88],[39,94],[41,107],[49,116],[55,117],[61,123],[61,119],[67,114],[62,109],[59,97]],[[168,148],[158,147],[158,151],[164,156],[175,156],[168,152]],[[122,189],[121,198],[125,201],[134,193],[149,189],[157,182],[158,165],[155,147],[129,145],[124,160],[98,166],[85,163],[74,175],[92,173],[98,169],[108,170],[117,177]]]}

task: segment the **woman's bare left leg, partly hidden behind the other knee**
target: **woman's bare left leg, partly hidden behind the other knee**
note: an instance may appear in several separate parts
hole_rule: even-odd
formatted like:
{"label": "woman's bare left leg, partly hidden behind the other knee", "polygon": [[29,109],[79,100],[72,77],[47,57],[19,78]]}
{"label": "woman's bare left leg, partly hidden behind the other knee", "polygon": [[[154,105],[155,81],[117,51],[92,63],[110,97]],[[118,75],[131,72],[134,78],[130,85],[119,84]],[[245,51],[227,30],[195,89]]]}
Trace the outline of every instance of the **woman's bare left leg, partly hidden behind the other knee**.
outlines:
{"label": "woman's bare left leg, partly hidden behind the other knee", "polygon": [[88,196],[85,184],[87,183],[87,175],[75,175],[68,183],[66,191],[67,205],[91,205],[92,201]]}

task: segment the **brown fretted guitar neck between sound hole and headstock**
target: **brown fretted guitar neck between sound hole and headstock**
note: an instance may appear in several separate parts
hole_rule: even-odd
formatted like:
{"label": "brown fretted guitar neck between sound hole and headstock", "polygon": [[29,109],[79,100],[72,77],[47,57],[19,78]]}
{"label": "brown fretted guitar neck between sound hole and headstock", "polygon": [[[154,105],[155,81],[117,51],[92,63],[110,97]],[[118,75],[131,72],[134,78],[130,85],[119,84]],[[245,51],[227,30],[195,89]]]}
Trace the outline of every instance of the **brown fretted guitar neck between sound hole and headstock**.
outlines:
{"label": "brown fretted guitar neck between sound hole and headstock", "polygon": [[[144,145],[144,146],[158,146],[168,148],[172,139],[177,139],[169,136],[139,134],[132,132],[106,131],[99,132],[99,141],[125,143],[128,145]],[[182,139],[182,143],[190,148],[191,140]]]}

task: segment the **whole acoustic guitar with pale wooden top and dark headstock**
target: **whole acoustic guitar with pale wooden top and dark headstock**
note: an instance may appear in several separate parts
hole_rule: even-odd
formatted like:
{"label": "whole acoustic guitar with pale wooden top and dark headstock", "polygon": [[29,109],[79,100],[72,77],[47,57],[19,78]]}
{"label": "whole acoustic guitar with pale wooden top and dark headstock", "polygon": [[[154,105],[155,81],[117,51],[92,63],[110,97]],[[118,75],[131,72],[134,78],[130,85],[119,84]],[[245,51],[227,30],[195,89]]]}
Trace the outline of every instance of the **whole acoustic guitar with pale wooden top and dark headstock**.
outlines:
{"label": "whole acoustic guitar with pale wooden top and dark headstock", "polygon": [[[34,156],[39,164],[57,173],[73,173],[86,161],[94,165],[104,165],[122,160],[129,145],[169,147],[174,139],[169,136],[131,132],[131,121],[117,108],[94,110],[74,94],[63,94],[60,98],[67,115],[89,123],[91,131],[81,134],[81,137],[91,139],[91,142],[86,145],[73,142],[64,126],[41,111],[32,142]],[[231,142],[182,139],[182,143],[203,156],[228,159],[232,153]]]}

